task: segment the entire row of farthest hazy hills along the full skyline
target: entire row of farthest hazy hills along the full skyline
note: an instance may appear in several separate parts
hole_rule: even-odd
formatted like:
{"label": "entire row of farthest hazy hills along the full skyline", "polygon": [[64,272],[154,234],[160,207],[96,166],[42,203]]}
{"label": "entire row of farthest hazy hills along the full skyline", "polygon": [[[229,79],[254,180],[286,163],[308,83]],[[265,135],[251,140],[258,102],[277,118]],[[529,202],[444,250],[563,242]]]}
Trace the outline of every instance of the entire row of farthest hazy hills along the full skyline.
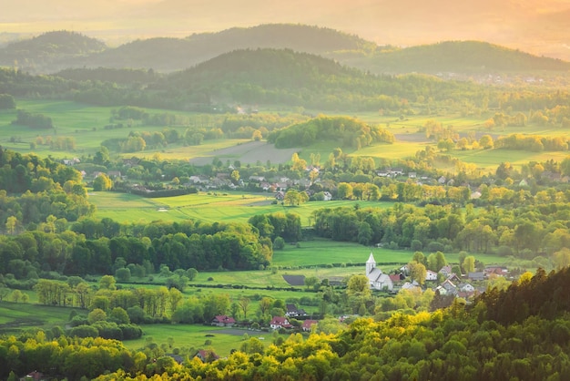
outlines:
{"label": "entire row of farthest hazy hills along the full skyline", "polygon": [[234,27],[185,38],[155,37],[109,47],[75,32],[57,31],[0,47],[0,66],[33,74],[67,68],[134,68],[174,72],[237,49],[288,48],[329,57],[375,74],[496,73],[568,71],[570,64],[550,57],[479,41],[449,41],[398,48],[377,46],[331,28],[292,24]]}

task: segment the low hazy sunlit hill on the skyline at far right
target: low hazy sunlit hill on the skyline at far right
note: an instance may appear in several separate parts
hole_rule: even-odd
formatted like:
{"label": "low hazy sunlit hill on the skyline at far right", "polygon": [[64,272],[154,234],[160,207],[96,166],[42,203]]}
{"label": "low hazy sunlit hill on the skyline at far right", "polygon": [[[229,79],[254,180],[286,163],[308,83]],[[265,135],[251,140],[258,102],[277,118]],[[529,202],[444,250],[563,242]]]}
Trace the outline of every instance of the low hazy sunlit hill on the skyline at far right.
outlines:
{"label": "low hazy sunlit hill on the skyline at far right", "polygon": [[446,41],[380,51],[354,62],[373,73],[504,73],[535,70],[568,71],[570,62],[537,57],[481,41]]}

